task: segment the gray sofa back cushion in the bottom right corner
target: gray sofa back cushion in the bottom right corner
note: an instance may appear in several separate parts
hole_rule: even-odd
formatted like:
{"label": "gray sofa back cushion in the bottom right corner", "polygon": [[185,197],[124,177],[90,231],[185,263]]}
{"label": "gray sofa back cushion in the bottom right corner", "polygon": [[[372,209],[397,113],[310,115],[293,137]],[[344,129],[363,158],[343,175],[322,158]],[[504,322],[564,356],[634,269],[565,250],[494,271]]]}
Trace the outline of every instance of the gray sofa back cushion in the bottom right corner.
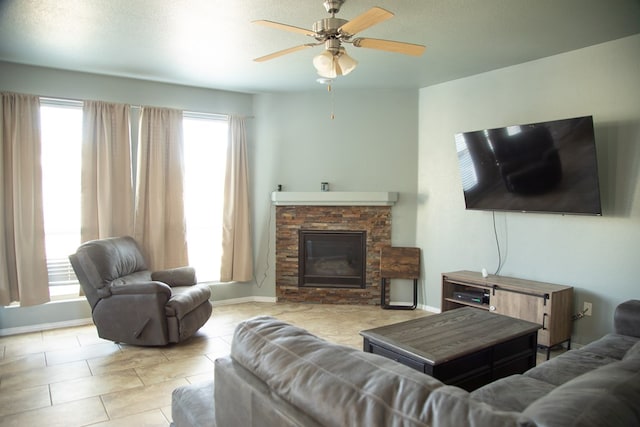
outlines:
{"label": "gray sofa back cushion in the bottom right corner", "polygon": [[640,360],[587,372],[532,403],[524,414],[538,426],[640,425]]}

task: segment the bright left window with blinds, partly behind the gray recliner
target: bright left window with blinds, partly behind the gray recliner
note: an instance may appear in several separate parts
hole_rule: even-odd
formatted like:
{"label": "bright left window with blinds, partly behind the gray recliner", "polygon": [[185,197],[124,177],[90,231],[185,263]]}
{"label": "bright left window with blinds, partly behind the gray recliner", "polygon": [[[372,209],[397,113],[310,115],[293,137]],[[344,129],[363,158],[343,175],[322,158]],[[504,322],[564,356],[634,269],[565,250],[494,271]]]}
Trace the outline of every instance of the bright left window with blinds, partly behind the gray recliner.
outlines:
{"label": "bright left window with blinds, partly behind the gray recliner", "polygon": [[69,254],[80,244],[82,103],[41,100],[42,198],[52,298],[78,295]]}

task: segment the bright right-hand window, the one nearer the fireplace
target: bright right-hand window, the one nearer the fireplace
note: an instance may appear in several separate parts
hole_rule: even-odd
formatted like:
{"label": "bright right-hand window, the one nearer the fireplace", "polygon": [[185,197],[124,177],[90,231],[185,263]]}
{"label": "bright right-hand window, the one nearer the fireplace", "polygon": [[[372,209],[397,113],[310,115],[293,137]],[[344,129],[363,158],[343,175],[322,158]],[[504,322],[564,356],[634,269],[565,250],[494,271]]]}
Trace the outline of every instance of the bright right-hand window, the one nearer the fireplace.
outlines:
{"label": "bright right-hand window, the one nearer the fireplace", "polygon": [[198,281],[218,281],[229,123],[226,117],[185,113],[183,129],[189,264]]}

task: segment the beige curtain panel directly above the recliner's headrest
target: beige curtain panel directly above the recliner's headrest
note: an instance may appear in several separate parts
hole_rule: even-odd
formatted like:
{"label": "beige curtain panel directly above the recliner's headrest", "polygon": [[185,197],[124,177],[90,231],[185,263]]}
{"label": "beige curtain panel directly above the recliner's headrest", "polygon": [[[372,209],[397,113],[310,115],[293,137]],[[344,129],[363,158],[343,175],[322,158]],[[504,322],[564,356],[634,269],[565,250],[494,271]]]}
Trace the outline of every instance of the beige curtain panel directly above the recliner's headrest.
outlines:
{"label": "beige curtain panel directly above the recliner's headrest", "polygon": [[133,234],[129,106],[85,101],[81,240]]}

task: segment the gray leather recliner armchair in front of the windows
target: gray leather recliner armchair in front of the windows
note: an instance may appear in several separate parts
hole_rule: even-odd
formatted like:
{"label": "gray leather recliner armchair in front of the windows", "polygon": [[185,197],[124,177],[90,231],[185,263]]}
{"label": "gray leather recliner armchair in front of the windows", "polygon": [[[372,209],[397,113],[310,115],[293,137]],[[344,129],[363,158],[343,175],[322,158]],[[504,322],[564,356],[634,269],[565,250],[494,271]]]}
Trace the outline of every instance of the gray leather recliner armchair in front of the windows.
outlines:
{"label": "gray leather recliner armchair in front of the windows", "polygon": [[189,338],[211,316],[211,290],[195,270],[151,272],[128,236],[83,243],[69,256],[101,338],[159,346]]}

